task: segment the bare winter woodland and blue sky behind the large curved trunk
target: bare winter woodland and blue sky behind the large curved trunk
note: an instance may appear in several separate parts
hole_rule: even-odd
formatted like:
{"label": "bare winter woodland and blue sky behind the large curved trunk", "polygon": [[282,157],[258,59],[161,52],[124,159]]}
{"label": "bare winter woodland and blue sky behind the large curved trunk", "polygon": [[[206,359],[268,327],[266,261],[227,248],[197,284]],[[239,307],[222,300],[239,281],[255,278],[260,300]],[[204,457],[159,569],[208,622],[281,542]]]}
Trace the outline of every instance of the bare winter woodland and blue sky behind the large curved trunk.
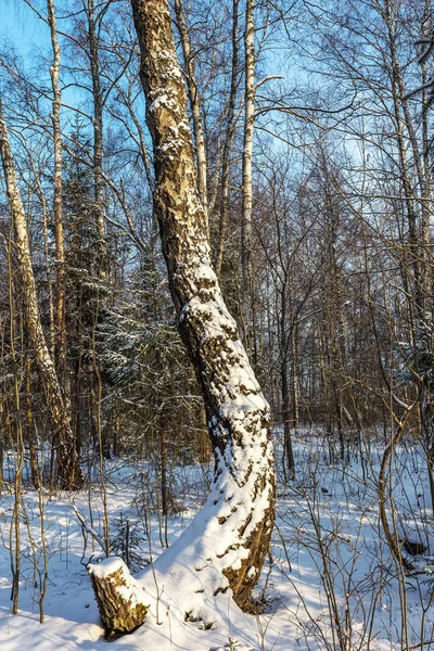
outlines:
{"label": "bare winter woodland and blue sky behind the large curved trunk", "polygon": [[[344,465],[399,438],[420,446],[434,503],[431,0],[171,9],[215,269],[283,480],[297,477],[298,436]],[[129,4],[18,10],[41,36],[25,58],[3,39],[1,104],[72,449],[102,482],[106,459],[152,462],[167,544],[174,469],[212,450],[153,215]],[[0,488],[74,488],[0,183],[0,472],[3,457],[20,471]]]}

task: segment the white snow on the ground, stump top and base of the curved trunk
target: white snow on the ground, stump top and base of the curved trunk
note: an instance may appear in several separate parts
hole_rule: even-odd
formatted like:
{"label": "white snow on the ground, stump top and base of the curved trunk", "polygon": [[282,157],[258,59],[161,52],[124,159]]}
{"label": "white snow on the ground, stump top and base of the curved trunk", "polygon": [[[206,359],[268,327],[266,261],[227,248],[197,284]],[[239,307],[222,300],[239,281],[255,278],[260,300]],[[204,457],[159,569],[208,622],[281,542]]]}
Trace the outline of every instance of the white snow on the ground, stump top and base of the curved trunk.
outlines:
{"label": "white snow on the ground, stump top and base of the curved trunk", "polygon": [[[215,514],[225,513],[229,518],[228,524],[233,518],[232,526],[237,526],[238,512],[245,508],[237,484],[231,484],[233,478],[227,478],[226,499],[217,505],[208,499],[206,509],[197,513],[195,511],[200,508],[205,488],[195,494],[191,489],[182,495],[183,510],[169,520],[171,546],[164,554],[161,553],[157,518],[149,514],[149,539],[142,545],[141,553],[151,558],[153,563],[135,577],[135,584],[140,588],[141,596],[145,587],[150,614],[137,631],[117,639],[111,646],[130,651],[333,650],[339,648],[333,646],[333,636],[337,643],[339,627],[330,616],[329,588],[324,584],[329,572],[339,624],[343,636],[352,640],[353,648],[367,648],[367,630],[371,623],[372,651],[405,648],[399,641],[403,618],[396,567],[384,544],[378,518],[375,478],[383,449],[384,444],[373,442],[370,444],[369,460],[361,463],[359,454],[354,450],[350,463],[342,465],[335,459],[331,463],[326,444],[308,432],[302,432],[294,442],[297,481],[285,485],[279,474],[272,559],[264,569],[255,592],[256,598],[265,601],[264,612],[258,616],[241,613],[231,599],[230,590],[213,595],[213,589],[222,587],[217,572],[213,575],[215,583],[204,585],[202,576],[208,579],[209,574],[197,571],[209,563],[207,559],[225,549],[226,541],[219,537],[221,527],[216,523]],[[279,457],[280,444],[277,450]],[[11,468],[7,468],[5,476],[11,477]],[[120,513],[131,520],[139,519],[137,505],[140,506],[140,500],[137,499],[136,484],[139,483],[140,473],[152,475],[152,472],[145,462],[138,460],[124,460],[117,464],[107,462],[107,499],[112,522]],[[202,469],[193,467],[176,469],[179,478],[182,477],[180,486],[194,483],[200,487],[202,472]],[[427,507],[429,483],[423,456],[418,447],[398,447],[392,481],[400,537],[421,541],[430,550],[425,558],[420,559],[418,573],[407,578],[407,620],[411,647],[421,640],[422,608],[426,609],[425,640],[433,639],[434,631],[434,612],[433,605],[430,605],[434,585],[434,565],[430,557],[434,551],[433,514]],[[27,487],[24,501],[38,549],[38,567],[41,570],[38,495]],[[75,506],[89,521],[87,494],[73,497],[63,494],[53,498],[44,495],[50,559],[43,624],[38,621],[39,592],[34,584],[34,559],[24,521],[21,528],[20,610],[17,615],[11,614],[8,547],[12,506],[12,497],[4,494],[0,501],[3,541],[0,546],[0,649],[106,649],[85,566],[91,557],[101,554],[101,549],[98,544],[92,546],[90,538],[84,549],[81,525],[74,512]],[[141,508],[143,506],[142,502]],[[232,510],[234,508],[237,511]],[[101,534],[103,510],[97,485],[92,487],[92,511],[93,528]],[[189,536],[179,538],[188,524]],[[199,544],[194,532],[204,528],[207,535]],[[326,559],[321,556],[321,546],[327,550]],[[240,550],[233,550],[233,553],[241,558]],[[173,563],[175,559],[177,563]],[[93,572],[106,576],[119,567],[123,567],[123,561],[108,559],[94,564]],[[254,573],[255,569],[252,567],[250,572]],[[177,590],[181,585],[182,591]]]}

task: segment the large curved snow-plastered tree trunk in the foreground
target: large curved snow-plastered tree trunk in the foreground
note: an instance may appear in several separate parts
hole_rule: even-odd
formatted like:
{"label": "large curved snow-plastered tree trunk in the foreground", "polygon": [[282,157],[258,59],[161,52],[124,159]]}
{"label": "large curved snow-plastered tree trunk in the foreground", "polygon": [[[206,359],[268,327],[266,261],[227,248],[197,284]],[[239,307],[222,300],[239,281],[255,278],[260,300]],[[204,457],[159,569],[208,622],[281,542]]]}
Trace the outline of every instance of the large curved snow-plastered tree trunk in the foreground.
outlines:
{"label": "large curved snow-plastered tree trunk in the foreground", "polygon": [[206,505],[139,583],[178,604],[174,608],[184,618],[205,620],[212,616],[213,596],[228,588],[238,605],[248,610],[268,551],[275,514],[269,409],[210,264],[167,1],[131,3],[154,146],[154,209],[179,329],[202,385],[215,454]]}

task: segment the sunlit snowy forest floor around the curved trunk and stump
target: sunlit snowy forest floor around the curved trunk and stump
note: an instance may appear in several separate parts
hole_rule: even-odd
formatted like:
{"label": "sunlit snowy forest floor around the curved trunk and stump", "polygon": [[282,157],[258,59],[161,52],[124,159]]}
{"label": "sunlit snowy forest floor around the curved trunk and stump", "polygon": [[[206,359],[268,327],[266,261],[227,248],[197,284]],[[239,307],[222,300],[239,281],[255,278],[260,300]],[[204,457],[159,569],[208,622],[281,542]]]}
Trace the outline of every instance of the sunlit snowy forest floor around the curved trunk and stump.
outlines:
{"label": "sunlit snowy forest floor around the curved trunk and stump", "polygon": [[[434,553],[433,518],[421,450],[399,448],[391,478],[399,537],[427,547],[424,558],[418,559],[420,572],[406,582],[399,580],[399,567],[391,559],[379,524],[375,477],[381,444],[371,446],[365,463],[354,454],[345,467],[331,464],[326,446],[306,433],[295,451],[296,482],[285,485],[282,477],[279,481],[271,554],[256,591],[263,602],[261,614],[245,615],[228,593],[220,595],[215,620],[206,623],[213,626],[206,629],[203,622],[180,621],[159,586],[157,616],[135,634],[111,642],[112,647],[131,651],[434,649],[434,578],[429,556],[430,549]],[[168,521],[169,541],[200,508],[208,472],[175,469],[178,513]],[[164,524],[151,512],[157,496],[152,470],[137,462],[110,462],[105,476],[118,553],[125,552],[129,519],[130,561],[155,559],[162,551]],[[90,501],[88,494],[51,499],[46,494],[43,499],[50,557],[43,624],[39,624],[38,605],[43,578],[38,494],[28,487],[24,492],[27,522],[23,509],[16,615],[11,614],[10,601],[13,497],[3,494],[0,499],[0,649],[106,649],[86,571],[86,562],[101,549],[97,542],[92,548],[91,537],[85,546],[74,512],[75,505],[90,522],[91,511],[93,528],[102,534],[101,488],[95,482]]]}

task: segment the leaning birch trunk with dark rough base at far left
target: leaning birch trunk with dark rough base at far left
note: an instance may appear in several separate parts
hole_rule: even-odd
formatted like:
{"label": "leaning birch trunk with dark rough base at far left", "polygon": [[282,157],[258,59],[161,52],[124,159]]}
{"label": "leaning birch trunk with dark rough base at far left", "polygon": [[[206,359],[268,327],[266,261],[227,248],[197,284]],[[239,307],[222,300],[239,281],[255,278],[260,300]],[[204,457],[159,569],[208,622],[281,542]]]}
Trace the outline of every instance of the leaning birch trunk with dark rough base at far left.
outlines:
{"label": "leaning birch trunk with dark rough base at far left", "polygon": [[55,443],[58,478],[62,488],[78,488],[84,483],[84,476],[78,465],[73,433],[65,410],[54,362],[48,349],[42,330],[35,276],[31,266],[27,220],[16,182],[14,163],[1,104],[0,154],[7,182],[8,201],[15,230],[14,245],[24,292],[25,323],[33,347],[33,355],[37,361],[43,383],[47,408],[51,421],[53,441]]}

